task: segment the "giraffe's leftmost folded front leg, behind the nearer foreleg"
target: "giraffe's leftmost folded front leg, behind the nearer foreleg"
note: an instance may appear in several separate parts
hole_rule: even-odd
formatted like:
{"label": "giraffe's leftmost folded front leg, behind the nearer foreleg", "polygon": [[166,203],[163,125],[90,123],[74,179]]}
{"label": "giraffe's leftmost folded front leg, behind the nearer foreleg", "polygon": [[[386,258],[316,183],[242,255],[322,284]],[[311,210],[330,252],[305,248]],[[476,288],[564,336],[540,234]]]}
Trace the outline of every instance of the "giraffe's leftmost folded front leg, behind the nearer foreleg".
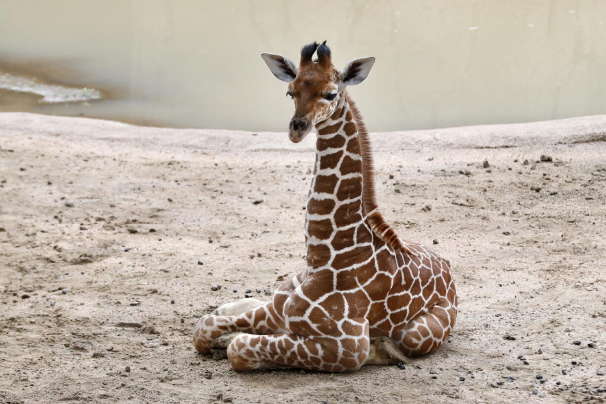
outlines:
{"label": "giraffe's leftmost folded front leg, behind the nearer foreleg", "polygon": [[213,340],[236,331],[250,334],[285,332],[284,324],[276,315],[271,301],[237,315],[203,315],[193,335],[196,351],[207,354]]}

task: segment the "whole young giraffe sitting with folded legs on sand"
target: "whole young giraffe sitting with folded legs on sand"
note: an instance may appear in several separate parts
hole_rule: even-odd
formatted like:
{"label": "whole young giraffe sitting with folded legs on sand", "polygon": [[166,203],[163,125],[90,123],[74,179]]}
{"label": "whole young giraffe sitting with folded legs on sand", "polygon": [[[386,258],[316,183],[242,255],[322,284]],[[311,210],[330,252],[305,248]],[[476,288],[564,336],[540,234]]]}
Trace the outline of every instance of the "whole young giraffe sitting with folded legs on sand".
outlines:
{"label": "whole young giraffe sitting with folded legs on sand", "polygon": [[457,314],[450,262],[402,240],[385,223],[368,132],[346,90],[367,77],[375,59],[355,59],[339,72],[326,41],[303,47],[298,68],[283,56],[262,58],[289,83],[287,95],[295,101],[290,140],[299,143],[312,127],[318,134],[305,213],[307,268],[271,301],[248,298],[202,316],[196,350],[207,354],[228,335],[227,356],[236,371],[325,372],[393,363],[382,343],[406,357],[434,351]]}

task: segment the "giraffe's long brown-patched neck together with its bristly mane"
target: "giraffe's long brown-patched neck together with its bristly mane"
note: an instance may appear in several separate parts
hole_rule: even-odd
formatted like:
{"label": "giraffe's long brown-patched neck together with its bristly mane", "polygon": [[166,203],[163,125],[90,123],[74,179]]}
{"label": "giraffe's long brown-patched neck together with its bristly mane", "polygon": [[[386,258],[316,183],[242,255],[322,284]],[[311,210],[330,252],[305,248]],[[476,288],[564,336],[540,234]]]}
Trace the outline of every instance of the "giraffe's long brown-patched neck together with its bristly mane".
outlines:
{"label": "giraffe's long brown-patched neck together with its bristly mane", "polygon": [[[415,254],[385,223],[375,199],[368,132],[346,91],[335,112],[316,124],[316,162],[305,217],[308,271],[335,268],[348,251],[371,240],[372,232],[394,249]],[[367,226],[360,226],[363,222]],[[370,232],[368,232],[370,230]]]}

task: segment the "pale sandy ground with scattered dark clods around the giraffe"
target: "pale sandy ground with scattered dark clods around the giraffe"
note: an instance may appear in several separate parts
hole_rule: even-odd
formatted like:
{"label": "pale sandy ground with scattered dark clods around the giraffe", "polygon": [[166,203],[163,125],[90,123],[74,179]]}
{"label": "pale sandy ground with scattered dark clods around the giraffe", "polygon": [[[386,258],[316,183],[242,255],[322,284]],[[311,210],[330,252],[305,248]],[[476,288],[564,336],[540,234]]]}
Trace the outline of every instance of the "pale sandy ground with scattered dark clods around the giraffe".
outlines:
{"label": "pale sandy ground with scattered dark clods around the giraffe", "polygon": [[1,113],[1,402],[604,402],[606,115],[372,138],[384,216],[453,263],[448,343],[238,374],[191,331],[304,265],[314,135]]}

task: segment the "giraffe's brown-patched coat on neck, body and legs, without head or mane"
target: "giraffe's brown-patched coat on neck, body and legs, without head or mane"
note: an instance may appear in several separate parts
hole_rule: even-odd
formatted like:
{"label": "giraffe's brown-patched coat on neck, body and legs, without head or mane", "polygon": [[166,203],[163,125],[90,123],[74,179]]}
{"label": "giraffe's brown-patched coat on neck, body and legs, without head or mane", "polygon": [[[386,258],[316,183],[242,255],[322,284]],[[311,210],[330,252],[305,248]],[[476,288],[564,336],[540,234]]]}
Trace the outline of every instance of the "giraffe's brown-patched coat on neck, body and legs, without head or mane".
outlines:
{"label": "giraffe's brown-patched coat on neck, body and legs, without head or mane", "polygon": [[207,315],[196,326],[195,347],[202,353],[221,334],[245,333],[227,349],[235,370],[355,371],[373,338],[390,337],[404,354],[420,355],[437,349],[454,326],[450,263],[421,244],[402,241],[407,251],[396,249],[371,230],[348,95],[339,95],[333,108],[316,125],[307,268],[264,305],[228,317]]}

